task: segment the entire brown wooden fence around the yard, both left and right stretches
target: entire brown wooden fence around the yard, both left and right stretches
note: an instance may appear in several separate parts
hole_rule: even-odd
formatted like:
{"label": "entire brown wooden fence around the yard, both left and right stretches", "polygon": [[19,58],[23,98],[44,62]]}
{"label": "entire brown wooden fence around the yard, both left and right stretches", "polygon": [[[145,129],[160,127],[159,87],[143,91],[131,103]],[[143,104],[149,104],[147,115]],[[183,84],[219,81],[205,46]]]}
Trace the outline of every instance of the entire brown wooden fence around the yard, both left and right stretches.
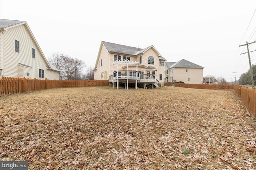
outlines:
{"label": "entire brown wooden fence around the yard, both left and right stretches", "polygon": [[[165,86],[172,86],[172,83],[165,83]],[[246,105],[250,112],[256,116],[256,90],[243,88],[233,84],[184,84],[174,83],[176,87],[200,88],[200,89],[222,89],[234,90],[238,98]],[[28,78],[0,79],[0,96],[32,92],[50,88],[68,87],[90,87],[90,86],[109,86],[108,80],[38,80]]]}

